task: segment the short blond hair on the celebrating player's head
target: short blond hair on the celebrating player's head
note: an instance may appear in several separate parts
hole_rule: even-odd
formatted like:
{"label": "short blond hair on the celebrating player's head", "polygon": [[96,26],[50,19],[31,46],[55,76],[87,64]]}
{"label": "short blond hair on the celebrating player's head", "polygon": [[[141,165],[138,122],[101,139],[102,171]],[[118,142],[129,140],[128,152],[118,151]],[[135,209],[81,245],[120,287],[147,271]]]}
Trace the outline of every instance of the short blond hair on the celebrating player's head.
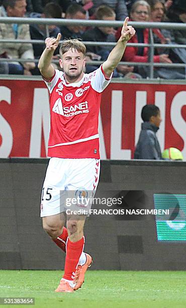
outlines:
{"label": "short blond hair on the celebrating player's head", "polygon": [[62,57],[62,55],[70,49],[74,49],[74,50],[77,50],[78,52],[82,52],[83,55],[85,55],[86,53],[86,47],[80,40],[70,39],[70,40],[64,40],[61,43],[61,46],[59,48],[60,57]]}

